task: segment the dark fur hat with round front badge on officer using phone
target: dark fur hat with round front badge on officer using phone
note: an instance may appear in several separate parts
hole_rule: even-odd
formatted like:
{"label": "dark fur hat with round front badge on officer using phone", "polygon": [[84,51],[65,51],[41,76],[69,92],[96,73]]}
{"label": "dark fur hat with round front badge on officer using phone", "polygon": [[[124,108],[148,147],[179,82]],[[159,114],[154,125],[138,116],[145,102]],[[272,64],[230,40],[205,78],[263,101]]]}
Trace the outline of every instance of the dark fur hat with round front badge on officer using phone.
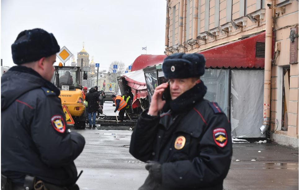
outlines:
{"label": "dark fur hat with round front badge on officer using phone", "polygon": [[163,61],[166,79],[200,77],[204,74],[206,59],[199,53],[175,53]]}

